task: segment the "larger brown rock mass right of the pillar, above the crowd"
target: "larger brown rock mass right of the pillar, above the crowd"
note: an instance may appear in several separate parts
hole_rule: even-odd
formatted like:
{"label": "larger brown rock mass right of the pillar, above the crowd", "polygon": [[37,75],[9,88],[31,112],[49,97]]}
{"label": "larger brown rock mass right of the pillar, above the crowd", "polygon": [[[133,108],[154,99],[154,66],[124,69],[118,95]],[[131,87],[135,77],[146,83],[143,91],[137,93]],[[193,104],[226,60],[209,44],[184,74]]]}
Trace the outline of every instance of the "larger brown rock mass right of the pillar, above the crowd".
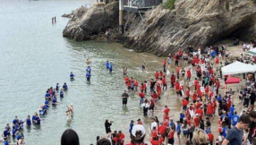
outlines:
{"label": "larger brown rock mass right of the pillar, above the crowd", "polygon": [[133,22],[127,22],[131,26],[124,34],[124,44],[155,55],[167,55],[189,45],[206,47],[249,28],[253,33],[255,16],[255,4],[248,0],[176,0],[173,11],[158,6],[145,13],[144,21],[133,15]]}

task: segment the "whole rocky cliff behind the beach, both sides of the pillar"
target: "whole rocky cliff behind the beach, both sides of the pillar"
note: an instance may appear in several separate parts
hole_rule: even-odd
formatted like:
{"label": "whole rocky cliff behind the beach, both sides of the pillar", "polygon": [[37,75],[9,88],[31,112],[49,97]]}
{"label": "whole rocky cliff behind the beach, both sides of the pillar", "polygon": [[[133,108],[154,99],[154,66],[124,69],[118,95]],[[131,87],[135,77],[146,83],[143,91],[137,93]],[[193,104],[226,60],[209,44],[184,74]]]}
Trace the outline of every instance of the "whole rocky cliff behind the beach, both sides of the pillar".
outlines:
{"label": "whole rocky cliff behind the beach, both sides of the pillar", "polygon": [[[143,19],[125,13],[124,46],[155,55],[188,45],[205,47],[223,38],[255,33],[255,16],[256,6],[248,0],[176,0],[174,10],[159,5],[144,13]],[[64,37],[87,39],[109,25],[118,28],[116,2],[77,13],[64,29]]]}

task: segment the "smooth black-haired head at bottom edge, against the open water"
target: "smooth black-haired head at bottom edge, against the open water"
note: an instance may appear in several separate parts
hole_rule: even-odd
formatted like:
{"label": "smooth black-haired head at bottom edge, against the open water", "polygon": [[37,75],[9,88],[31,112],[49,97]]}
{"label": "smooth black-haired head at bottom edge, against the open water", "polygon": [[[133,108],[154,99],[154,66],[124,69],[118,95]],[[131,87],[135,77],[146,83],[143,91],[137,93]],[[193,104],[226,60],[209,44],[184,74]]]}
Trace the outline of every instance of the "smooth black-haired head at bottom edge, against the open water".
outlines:
{"label": "smooth black-haired head at bottom edge, against the open water", "polygon": [[79,137],[73,129],[67,129],[64,131],[61,138],[61,145],[80,145]]}

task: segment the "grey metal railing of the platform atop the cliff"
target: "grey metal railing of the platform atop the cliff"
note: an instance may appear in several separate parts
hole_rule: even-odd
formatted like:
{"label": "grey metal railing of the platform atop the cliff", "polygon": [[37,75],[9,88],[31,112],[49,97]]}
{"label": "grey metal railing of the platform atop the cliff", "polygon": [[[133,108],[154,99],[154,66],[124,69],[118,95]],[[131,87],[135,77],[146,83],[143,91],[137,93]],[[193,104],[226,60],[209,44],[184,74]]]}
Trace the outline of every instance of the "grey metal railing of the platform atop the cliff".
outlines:
{"label": "grey metal railing of the platform atop the cliff", "polygon": [[124,0],[124,5],[131,7],[150,7],[158,4],[162,4],[162,0]]}

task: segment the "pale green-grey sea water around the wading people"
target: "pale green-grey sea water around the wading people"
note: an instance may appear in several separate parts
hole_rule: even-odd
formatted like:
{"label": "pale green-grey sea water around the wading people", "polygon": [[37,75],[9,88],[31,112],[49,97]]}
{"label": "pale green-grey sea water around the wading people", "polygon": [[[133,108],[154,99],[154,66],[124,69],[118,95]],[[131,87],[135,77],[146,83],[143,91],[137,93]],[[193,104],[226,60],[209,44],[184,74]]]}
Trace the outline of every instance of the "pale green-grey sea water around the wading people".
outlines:
{"label": "pale green-grey sea water around the wading people", "polygon": [[[122,130],[128,136],[130,121],[142,118],[139,98],[132,95],[128,107],[123,108],[121,94],[124,80],[122,67],[128,66],[128,75],[144,81],[156,68],[160,58],[136,54],[120,44],[107,42],[75,42],[62,37],[69,21],[62,18],[82,4],[94,1],[0,1],[0,128],[12,124],[14,115],[22,120],[33,115],[44,103],[47,88],[67,82],[69,90],[61,104],[50,107],[40,126],[24,128],[26,144],[60,144],[67,128],[78,132],[81,144],[96,141],[104,135],[106,119],[115,123],[112,130]],[[51,18],[56,17],[52,25]],[[92,78],[85,79],[85,60],[92,60]],[[105,69],[106,61],[113,62],[114,72]],[[149,64],[151,73],[141,76],[141,63]],[[73,71],[75,80],[69,80]],[[58,98],[60,101],[60,99]],[[65,105],[74,104],[71,123],[66,122]],[[11,139],[11,141],[13,141]],[[127,140],[126,140],[127,141]]]}

